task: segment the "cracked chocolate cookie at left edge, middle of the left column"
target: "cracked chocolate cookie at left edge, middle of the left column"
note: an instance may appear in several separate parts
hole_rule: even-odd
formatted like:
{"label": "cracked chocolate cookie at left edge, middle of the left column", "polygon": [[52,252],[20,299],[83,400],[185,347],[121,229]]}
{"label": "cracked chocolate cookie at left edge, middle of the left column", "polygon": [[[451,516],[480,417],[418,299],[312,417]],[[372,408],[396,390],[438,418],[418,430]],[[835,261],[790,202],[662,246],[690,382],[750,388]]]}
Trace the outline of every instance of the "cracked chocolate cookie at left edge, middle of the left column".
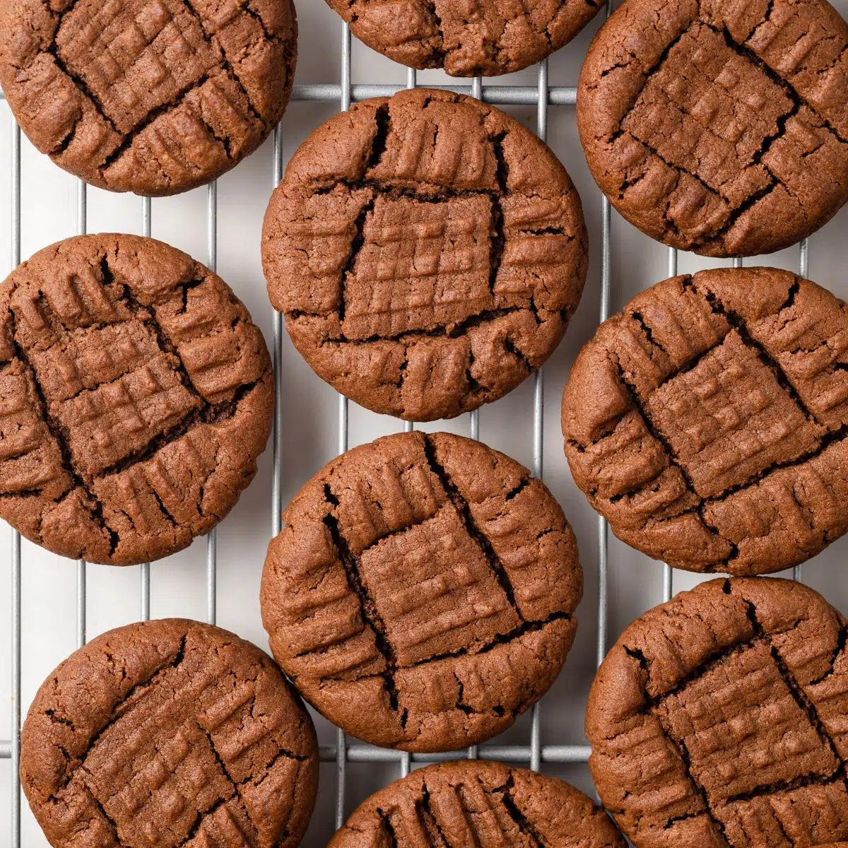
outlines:
{"label": "cracked chocolate cookie at left edge, middle of the left column", "polygon": [[253,479],[273,409],[248,310],[167,244],[70,238],[0,285],[0,517],[47,550],[187,547]]}

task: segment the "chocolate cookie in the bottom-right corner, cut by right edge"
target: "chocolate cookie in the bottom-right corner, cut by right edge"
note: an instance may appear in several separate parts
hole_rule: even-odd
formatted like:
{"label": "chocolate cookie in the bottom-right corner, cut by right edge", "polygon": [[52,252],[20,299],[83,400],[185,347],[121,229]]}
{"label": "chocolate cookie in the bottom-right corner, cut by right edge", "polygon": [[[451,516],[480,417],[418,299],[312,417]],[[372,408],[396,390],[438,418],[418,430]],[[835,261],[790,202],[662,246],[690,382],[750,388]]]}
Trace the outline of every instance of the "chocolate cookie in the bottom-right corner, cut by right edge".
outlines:
{"label": "chocolate cookie in the bottom-right corner, cut by right edge", "polygon": [[639,848],[848,840],[848,622],[774,578],[701,583],[622,633],[589,694],[589,767]]}

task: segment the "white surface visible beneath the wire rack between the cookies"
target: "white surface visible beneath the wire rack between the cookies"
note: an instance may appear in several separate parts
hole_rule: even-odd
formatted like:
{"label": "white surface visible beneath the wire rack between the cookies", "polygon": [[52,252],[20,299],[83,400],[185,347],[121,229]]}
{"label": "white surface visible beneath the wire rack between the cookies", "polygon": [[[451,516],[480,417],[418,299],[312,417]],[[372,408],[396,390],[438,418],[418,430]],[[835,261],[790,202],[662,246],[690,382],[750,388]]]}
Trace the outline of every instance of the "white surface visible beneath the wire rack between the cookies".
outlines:
{"label": "white surface visible beneath the wire rack between the cookies", "polygon": [[[322,0],[296,0],[300,22],[298,83],[338,82],[341,24]],[[848,16],[848,0],[834,0]],[[550,85],[573,86],[589,39],[597,31],[603,13],[571,44],[550,59]],[[353,81],[405,83],[405,69],[383,59],[354,40]],[[420,72],[419,85],[448,81],[440,72]],[[502,77],[498,84],[536,85],[536,69]],[[283,121],[284,162],[309,132],[329,118],[338,106],[292,103]],[[532,129],[533,108],[509,109]],[[10,182],[8,173],[11,118],[0,103],[0,272],[10,270]],[[589,226],[591,265],[589,280],[577,315],[566,338],[545,367],[544,480],[553,490],[577,533],[586,572],[583,605],[577,611],[577,643],[561,677],[543,701],[542,743],[585,743],[583,711],[594,673],[597,644],[597,522],[583,494],[572,483],[561,449],[559,408],[562,388],[577,350],[594,333],[598,323],[600,292],[600,194],[594,187],[577,141],[573,107],[550,107],[549,143],[566,165],[583,198]],[[259,260],[259,233],[265,205],[272,189],[271,140],[219,183],[218,271],[242,298],[271,348],[271,306]],[[55,167],[24,141],[23,149],[22,258],[61,238],[76,227],[76,181]],[[153,237],[206,260],[206,190],[176,198],[153,200]],[[142,201],[131,195],[114,195],[89,189],[88,232],[134,232],[142,228]],[[840,297],[848,298],[845,274],[845,243],[848,241],[848,207],[810,240],[810,276]],[[798,248],[774,254],[761,262],[798,269]],[[715,265],[694,254],[680,254],[679,272]],[[615,213],[612,222],[612,311],[640,289],[666,276],[667,249],[641,235]],[[288,338],[282,343],[284,450],[282,453],[283,503],[336,453],[337,399],[304,364]],[[533,460],[533,381],[528,380],[505,399],[483,407],[480,436],[494,448],[529,466]],[[350,446],[402,429],[400,421],[376,416],[350,405]],[[437,425],[468,433],[468,416]],[[265,546],[271,535],[271,449],[263,455],[259,474],[243,494],[218,531],[218,623],[267,648],[259,620],[259,575]],[[11,722],[11,537],[0,522],[0,739],[9,738]],[[848,612],[848,537],[832,544],[805,566],[804,578],[834,605]],[[204,539],[186,551],[151,566],[151,615],[206,615]],[[40,550],[26,541],[22,553],[23,593],[23,700],[25,714],[42,679],[75,647],[75,564]],[[136,621],[139,616],[140,570],[88,566],[87,634],[89,638],[109,628]],[[674,591],[689,588],[695,575],[674,574]],[[661,565],[610,540],[610,627],[608,644],[645,609],[661,600]],[[316,719],[322,744],[335,743],[335,732]],[[527,745],[529,714],[498,739],[503,744]],[[349,764],[346,811],[371,791],[399,776],[399,767]],[[580,788],[594,791],[587,767],[544,765],[546,773],[566,778]],[[10,845],[8,760],[0,760],[0,846]],[[321,787],[309,834],[304,845],[320,848],[333,830],[335,766],[321,766]],[[22,845],[47,845],[26,802],[23,802]]]}

